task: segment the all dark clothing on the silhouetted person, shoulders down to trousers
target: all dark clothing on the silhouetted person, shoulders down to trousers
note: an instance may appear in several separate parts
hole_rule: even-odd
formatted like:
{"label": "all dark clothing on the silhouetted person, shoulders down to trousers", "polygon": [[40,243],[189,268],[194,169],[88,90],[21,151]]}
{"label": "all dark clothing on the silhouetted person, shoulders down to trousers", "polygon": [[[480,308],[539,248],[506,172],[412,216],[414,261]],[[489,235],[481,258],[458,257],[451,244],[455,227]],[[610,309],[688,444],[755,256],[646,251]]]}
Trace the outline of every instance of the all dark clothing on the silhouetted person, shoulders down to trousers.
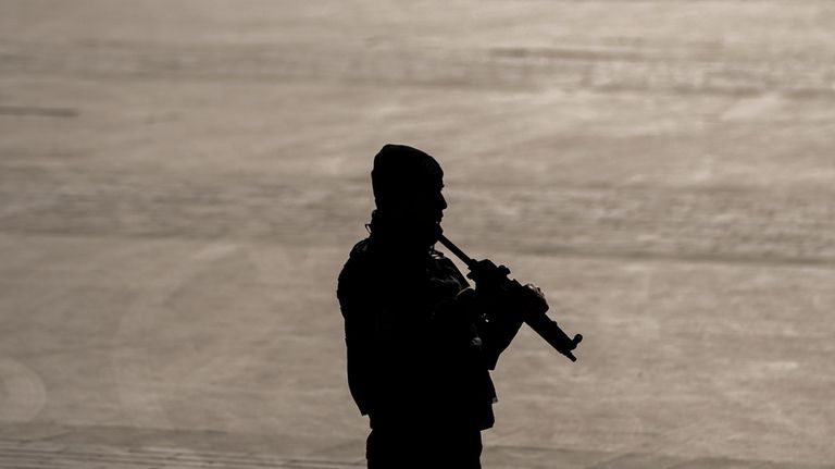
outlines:
{"label": "all dark clothing on the silhouetted person, shoulders down to trousers", "polygon": [[[456,467],[478,467],[478,432],[494,423],[488,370],[521,319],[468,287],[452,261],[432,249],[407,256],[372,236],[351,251],[337,296],[348,384],[373,429],[370,468],[406,467],[418,456],[434,461],[423,467],[445,467],[445,454],[474,458]],[[391,455],[398,464],[385,462]]]}

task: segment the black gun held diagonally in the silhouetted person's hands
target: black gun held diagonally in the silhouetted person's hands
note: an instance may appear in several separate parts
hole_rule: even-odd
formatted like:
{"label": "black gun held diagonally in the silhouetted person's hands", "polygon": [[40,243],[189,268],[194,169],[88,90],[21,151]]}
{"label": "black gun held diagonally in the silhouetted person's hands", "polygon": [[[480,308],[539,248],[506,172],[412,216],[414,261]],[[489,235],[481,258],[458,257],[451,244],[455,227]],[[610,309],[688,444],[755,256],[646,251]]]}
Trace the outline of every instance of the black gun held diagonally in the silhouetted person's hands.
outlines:
{"label": "black gun held diagonally in the silhouetted person's hands", "polygon": [[[461,259],[470,269],[470,276],[478,282],[485,281],[490,286],[495,286],[500,291],[508,292],[510,289],[525,288],[516,280],[508,277],[510,269],[504,266],[496,266],[490,261],[477,261],[465,255],[464,251],[458,248],[446,236],[440,235],[438,237],[440,244],[446,246],[456,257]],[[524,316],[525,323],[531,326],[540,337],[545,338],[545,342],[551,345],[557,351],[566,356],[571,361],[577,361],[577,357],[572,354],[572,350],[577,348],[577,344],[583,340],[581,334],[574,335],[571,338],[565,334],[562,329],[551,320],[548,314],[547,305],[544,311],[528,312]]]}

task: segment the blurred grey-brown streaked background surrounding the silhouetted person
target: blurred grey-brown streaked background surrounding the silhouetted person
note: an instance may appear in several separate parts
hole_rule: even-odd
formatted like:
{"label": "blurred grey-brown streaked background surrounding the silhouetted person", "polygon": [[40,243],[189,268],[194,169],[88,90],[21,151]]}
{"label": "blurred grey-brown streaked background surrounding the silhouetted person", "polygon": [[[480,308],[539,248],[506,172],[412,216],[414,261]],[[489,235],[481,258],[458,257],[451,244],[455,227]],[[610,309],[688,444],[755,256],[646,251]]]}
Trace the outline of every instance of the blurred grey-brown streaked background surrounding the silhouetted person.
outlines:
{"label": "blurred grey-brown streaked background surrounding the silhouetted person", "polygon": [[833,104],[830,0],[1,0],[0,466],[361,465],[402,143],[585,336],[506,353],[485,468],[833,467]]}

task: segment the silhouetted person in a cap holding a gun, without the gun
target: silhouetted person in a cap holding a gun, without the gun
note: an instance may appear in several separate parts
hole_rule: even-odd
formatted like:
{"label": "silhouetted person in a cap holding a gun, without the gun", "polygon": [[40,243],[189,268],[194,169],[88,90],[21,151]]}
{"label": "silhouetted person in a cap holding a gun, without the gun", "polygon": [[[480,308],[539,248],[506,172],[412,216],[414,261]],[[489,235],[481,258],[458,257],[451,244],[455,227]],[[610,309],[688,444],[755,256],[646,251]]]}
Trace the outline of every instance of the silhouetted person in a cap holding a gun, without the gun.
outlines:
{"label": "silhouetted person in a cap holding a gun, without the gun", "polygon": [[488,370],[522,323],[514,298],[473,291],[434,249],[443,175],[423,151],[383,147],[371,174],[371,235],[339,275],[348,384],[372,429],[370,469],[479,468],[496,402]]}

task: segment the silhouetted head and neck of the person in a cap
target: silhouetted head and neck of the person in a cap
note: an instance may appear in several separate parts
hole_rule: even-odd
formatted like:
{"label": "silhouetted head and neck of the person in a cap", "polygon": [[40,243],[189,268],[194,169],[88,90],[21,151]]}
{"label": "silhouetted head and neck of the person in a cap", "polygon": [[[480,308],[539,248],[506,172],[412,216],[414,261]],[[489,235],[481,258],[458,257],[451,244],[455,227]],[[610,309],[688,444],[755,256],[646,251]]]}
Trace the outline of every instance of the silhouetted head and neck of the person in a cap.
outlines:
{"label": "silhouetted head and neck of the person in a cap", "polygon": [[386,145],[374,157],[371,183],[375,235],[421,247],[437,242],[447,201],[440,194],[444,171],[433,157],[406,145]]}

